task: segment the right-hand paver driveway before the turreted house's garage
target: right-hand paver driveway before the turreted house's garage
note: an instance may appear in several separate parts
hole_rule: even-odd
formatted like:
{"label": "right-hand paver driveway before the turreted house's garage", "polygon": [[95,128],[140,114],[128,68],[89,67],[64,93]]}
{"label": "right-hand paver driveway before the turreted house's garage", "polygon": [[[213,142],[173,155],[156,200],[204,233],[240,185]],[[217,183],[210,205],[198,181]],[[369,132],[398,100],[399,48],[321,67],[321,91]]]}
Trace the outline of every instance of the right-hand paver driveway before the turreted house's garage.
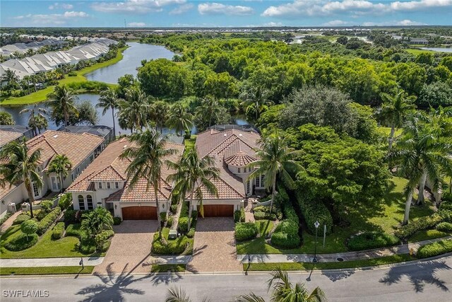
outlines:
{"label": "right-hand paver driveway before the turreted house's garage", "polygon": [[193,259],[187,266],[191,272],[238,272],[234,239],[234,219],[228,217],[198,218]]}

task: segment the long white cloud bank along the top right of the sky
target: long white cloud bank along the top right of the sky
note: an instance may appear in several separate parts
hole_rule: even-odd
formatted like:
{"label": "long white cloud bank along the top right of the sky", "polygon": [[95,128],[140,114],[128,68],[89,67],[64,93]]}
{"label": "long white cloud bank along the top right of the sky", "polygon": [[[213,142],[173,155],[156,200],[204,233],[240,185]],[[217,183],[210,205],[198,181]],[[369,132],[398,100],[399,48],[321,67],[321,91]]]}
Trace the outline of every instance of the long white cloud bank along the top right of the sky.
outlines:
{"label": "long white cloud bank along the top right of the sky", "polygon": [[382,3],[367,0],[293,0],[279,6],[269,6],[261,14],[266,17],[297,17],[297,16],[331,16],[347,13],[349,16],[367,14],[381,15],[396,11],[415,11],[429,8],[444,8],[452,6],[452,0],[413,0]]}

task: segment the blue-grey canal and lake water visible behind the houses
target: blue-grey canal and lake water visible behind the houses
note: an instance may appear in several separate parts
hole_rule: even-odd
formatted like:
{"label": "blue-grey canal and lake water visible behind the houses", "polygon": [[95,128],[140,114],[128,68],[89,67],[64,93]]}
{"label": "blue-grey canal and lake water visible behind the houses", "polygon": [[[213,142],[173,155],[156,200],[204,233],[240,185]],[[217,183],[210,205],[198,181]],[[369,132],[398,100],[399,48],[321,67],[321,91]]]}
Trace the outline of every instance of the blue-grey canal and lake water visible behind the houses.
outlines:
{"label": "blue-grey canal and lake water visible behind the houses", "polygon": [[[174,52],[167,50],[165,47],[160,45],[150,45],[150,44],[140,44],[137,42],[128,42],[129,48],[124,50],[124,58],[117,64],[109,65],[102,69],[97,69],[90,74],[85,75],[85,77],[91,81],[102,81],[105,83],[117,83],[119,77],[124,76],[124,74],[133,74],[136,76],[136,68],[141,66],[141,60],[143,59],[159,59],[166,58],[172,59]],[[88,100],[93,105],[96,105],[99,100],[99,95],[83,93],[77,95],[79,101]],[[20,111],[24,108],[33,108],[35,105],[22,105],[22,106],[0,106],[0,110],[9,112],[16,124],[23,126],[28,126],[28,113],[20,115]],[[48,109],[46,103],[39,103],[37,107]],[[115,113],[117,110],[115,110]],[[105,115],[102,115],[102,109],[97,108],[97,116],[99,120],[97,124],[103,124],[105,126],[112,127],[112,111],[108,110]],[[52,122],[52,120],[47,119],[49,122],[48,129],[57,129],[57,125]],[[243,115],[237,115],[234,117],[235,124],[248,124]],[[118,124],[118,119],[115,117],[115,127],[117,134],[129,134],[130,130],[121,129]],[[166,130],[165,132],[168,132]],[[191,129],[193,134],[196,134],[196,127]]]}

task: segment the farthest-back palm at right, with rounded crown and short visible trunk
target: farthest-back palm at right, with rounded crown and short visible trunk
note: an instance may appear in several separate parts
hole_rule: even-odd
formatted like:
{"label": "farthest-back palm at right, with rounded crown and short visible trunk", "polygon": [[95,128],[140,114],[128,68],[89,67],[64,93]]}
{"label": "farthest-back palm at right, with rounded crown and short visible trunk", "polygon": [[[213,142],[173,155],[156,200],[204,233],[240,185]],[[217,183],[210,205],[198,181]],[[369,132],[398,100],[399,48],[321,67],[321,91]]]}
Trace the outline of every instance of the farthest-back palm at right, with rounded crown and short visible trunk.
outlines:
{"label": "farthest-back palm at right, with rounded crown and short visible trunk", "polygon": [[414,110],[416,106],[412,103],[412,98],[408,98],[403,90],[398,91],[394,96],[383,93],[381,98],[383,98],[385,102],[377,112],[377,115],[382,122],[391,127],[391,133],[389,134],[389,151],[391,151],[396,128],[400,128],[403,125],[405,117],[407,117],[408,113]]}

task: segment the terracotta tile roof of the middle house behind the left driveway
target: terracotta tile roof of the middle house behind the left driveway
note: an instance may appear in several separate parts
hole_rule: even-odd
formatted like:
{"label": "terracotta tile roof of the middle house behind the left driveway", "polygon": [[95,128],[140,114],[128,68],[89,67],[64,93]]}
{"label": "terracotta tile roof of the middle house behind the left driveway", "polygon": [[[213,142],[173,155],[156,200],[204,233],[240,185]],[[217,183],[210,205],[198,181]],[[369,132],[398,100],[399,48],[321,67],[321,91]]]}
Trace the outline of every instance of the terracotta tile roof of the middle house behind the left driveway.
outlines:
{"label": "terracotta tile roof of the middle house behind the left driveway", "polygon": [[[184,145],[166,143],[170,149],[177,150],[176,154],[168,156],[169,161],[178,161],[184,151]],[[126,169],[131,163],[129,158],[119,158],[122,151],[130,146],[129,139],[123,138],[112,142],[100,153],[100,156],[88,165],[81,175],[78,176],[71,186],[66,190],[67,192],[86,192],[95,191],[94,182],[96,181],[118,181],[126,180]],[[165,179],[167,175],[174,173],[174,171],[167,169],[166,167],[161,171],[160,187],[158,190],[159,200],[169,199],[171,193],[171,185],[169,185]],[[147,180],[138,180],[138,183],[129,189],[129,183],[126,182],[124,189],[118,190],[107,197],[107,202],[121,201],[121,202],[150,202],[154,201],[153,187],[151,186],[146,192]]]}

